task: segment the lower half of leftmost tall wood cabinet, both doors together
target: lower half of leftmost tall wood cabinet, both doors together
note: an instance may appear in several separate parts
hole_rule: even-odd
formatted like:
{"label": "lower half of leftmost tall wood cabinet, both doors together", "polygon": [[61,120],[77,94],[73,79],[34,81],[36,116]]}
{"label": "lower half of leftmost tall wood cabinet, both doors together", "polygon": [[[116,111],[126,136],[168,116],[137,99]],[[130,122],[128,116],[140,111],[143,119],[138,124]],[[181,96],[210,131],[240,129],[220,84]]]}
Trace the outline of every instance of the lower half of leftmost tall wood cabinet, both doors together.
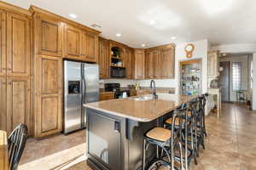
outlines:
{"label": "lower half of leftmost tall wood cabinet, both doors together", "polygon": [[32,134],[29,77],[0,77],[0,129],[11,133],[25,123]]}

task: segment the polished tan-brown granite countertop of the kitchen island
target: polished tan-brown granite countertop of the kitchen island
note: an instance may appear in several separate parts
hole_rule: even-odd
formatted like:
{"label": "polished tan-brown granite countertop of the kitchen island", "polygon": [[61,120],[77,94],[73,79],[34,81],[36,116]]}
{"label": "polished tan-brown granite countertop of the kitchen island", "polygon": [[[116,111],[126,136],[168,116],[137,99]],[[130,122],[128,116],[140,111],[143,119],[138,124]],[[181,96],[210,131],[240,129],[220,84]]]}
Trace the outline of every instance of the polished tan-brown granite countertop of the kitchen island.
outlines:
{"label": "polished tan-brown granite countertop of the kitchen island", "polygon": [[[144,96],[150,96],[144,95]],[[196,96],[177,94],[159,94],[158,99],[137,101],[131,97],[126,99],[110,99],[84,105],[87,108],[107,112],[115,116],[122,116],[138,122],[151,122],[166,113],[177,109]]]}

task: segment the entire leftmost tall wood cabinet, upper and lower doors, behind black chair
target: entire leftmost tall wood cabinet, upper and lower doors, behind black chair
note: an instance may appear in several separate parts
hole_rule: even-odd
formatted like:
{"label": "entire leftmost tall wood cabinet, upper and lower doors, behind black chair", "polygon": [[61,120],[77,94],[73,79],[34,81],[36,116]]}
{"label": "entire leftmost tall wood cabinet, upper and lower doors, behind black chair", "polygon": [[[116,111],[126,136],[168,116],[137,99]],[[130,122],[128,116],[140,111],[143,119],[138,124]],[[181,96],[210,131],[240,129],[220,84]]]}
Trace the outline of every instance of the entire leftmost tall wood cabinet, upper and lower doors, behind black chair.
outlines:
{"label": "entire leftmost tall wood cabinet, upper and lower doors, behind black chair", "polygon": [[0,3],[0,129],[10,133],[25,123],[32,134],[31,14]]}

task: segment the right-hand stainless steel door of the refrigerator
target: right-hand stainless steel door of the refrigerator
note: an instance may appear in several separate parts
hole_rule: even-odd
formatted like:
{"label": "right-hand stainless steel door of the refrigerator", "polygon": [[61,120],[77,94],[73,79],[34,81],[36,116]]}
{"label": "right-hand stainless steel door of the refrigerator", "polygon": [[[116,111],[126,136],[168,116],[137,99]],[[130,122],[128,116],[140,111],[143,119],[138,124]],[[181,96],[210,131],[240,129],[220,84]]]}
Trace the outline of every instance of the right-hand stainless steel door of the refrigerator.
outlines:
{"label": "right-hand stainless steel door of the refrigerator", "polygon": [[[99,101],[99,65],[84,63],[82,69],[83,104]],[[82,113],[82,127],[85,127],[86,110],[84,107]]]}

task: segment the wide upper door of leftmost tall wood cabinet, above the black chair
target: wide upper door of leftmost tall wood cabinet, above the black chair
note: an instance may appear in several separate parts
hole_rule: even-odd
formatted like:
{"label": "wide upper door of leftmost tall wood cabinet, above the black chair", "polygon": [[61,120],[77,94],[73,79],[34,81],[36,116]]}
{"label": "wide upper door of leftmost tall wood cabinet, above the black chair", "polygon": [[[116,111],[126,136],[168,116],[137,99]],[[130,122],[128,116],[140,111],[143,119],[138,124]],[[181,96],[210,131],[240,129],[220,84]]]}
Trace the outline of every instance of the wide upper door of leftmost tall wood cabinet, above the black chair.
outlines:
{"label": "wide upper door of leftmost tall wood cabinet, above the black chair", "polygon": [[30,74],[30,22],[19,14],[7,14],[7,75]]}

